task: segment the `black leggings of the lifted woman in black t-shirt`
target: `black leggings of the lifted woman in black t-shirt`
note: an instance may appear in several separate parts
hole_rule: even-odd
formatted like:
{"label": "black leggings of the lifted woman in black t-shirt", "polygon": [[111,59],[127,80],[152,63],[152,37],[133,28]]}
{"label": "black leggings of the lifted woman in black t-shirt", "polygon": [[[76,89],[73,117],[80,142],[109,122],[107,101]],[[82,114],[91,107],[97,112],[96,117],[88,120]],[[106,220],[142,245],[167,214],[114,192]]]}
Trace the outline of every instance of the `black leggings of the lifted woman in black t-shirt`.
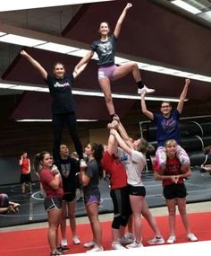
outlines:
{"label": "black leggings of the lifted woman in black t-shirt", "polygon": [[62,141],[62,132],[63,132],[63,124],[66,123],[69,133],[72,137],[73,144],[75,146],[75,150],[79,154],[79,158],[83,158],[83,149],[80,142],[80,138],[77,132],[77,122],[75,113],[68,112],[68,113],[61,113],[61,114],[54,114],[52,118],[53,124],[53,132],[54,132],[54,146],[53,146],[53,157],[55,161],[59,157],[60,152],[60,145]]}

